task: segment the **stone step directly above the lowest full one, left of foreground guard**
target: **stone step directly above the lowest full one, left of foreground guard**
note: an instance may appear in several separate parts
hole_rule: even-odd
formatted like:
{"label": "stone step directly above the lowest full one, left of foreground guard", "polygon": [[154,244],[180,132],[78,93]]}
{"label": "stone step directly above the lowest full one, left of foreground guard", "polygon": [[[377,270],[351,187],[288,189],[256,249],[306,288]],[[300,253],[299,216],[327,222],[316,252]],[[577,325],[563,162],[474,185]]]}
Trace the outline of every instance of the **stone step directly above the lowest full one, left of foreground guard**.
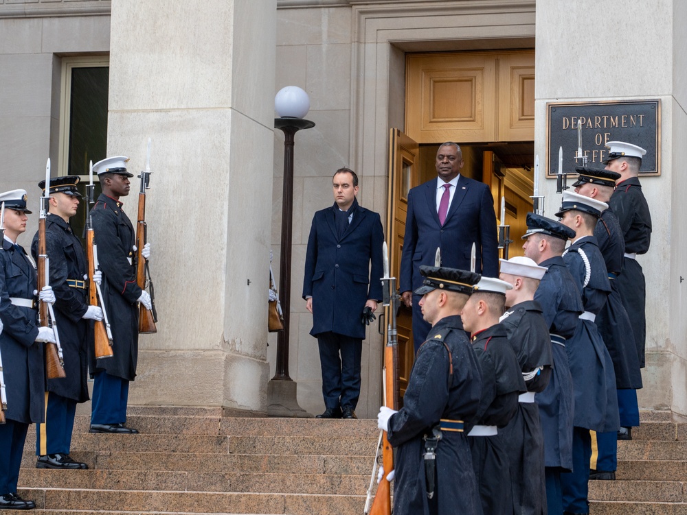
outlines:
{"label": "stone step directly above the lowest full one, left of foreground guard", "polygon": [[162,470],[21,470],[19,483],[32,488],[235,492],[264,494],[365,494],[363,475],[171,472]]}

